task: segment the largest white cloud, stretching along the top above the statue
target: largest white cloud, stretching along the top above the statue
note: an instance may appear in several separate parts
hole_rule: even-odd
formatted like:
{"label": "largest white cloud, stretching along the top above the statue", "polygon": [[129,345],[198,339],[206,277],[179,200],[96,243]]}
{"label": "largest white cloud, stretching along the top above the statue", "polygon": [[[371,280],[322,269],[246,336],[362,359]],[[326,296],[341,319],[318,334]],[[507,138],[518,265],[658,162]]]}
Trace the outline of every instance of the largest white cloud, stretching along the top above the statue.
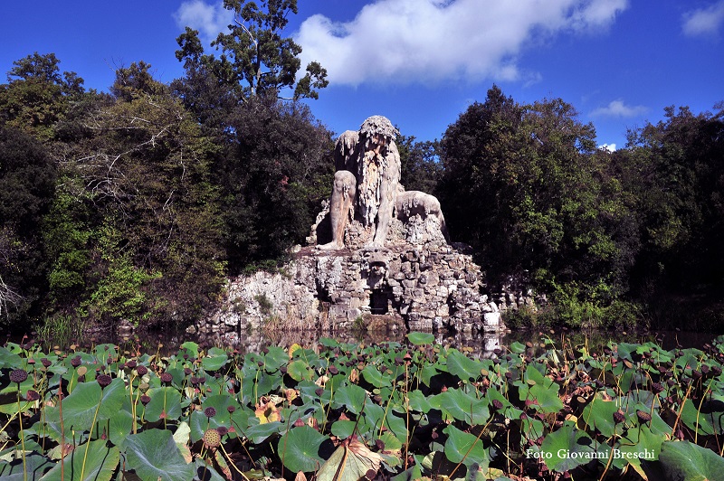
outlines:
{"label": "largest white cloud, stretching along the top above the statue", "polygon": [[[295,40],[336,84],[520,80],[527,42],[605,28],[628,0],[377,0],[346,23],[317,14]],[[528,80],[528,79],[523,79]]]}

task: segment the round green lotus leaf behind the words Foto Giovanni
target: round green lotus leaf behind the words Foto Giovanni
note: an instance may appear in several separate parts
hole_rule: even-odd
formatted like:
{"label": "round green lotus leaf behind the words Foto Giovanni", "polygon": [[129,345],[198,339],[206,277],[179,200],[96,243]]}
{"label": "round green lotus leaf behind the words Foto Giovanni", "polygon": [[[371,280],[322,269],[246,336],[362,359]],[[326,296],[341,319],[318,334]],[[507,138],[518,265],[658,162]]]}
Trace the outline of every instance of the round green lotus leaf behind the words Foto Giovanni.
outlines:
{"label": "round green lotus leaf behind the words Foto Giovanni", "polygon": [[584,431],[567,423],[543,439],[540,452],[548,469],[563,473],[594,458],[597,453],[592,445],[592,439]]}

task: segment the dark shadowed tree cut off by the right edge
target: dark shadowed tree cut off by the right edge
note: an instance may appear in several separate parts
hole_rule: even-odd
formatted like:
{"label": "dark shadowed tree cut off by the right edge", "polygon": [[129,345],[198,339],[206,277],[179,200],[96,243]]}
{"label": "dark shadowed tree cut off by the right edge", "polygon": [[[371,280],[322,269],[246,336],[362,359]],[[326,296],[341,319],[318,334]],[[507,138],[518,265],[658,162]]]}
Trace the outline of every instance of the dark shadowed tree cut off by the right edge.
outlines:
{"label": "dark shadowed tree cut off by the right edge", "polygon": [[[655,307],[664,296],[713,296],[724,291],[724,110],[695,115],[664,109],[656,124],[629,131],[616,157],[624,189],[635,199],[642,250],[635,294]],[[698,312],[700,301],[687,311]]]}

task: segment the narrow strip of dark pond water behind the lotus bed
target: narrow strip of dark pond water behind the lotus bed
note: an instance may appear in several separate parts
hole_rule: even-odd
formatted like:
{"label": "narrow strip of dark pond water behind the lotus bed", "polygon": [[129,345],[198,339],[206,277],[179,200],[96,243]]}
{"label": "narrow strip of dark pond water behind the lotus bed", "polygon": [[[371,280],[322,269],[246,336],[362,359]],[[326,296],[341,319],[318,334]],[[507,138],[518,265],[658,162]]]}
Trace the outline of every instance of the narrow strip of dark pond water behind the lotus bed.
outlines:
{"label": "narrow strip of dark pond water behind the lotus bed", "polygon": [[[70,344],[91,346],[93,344],[112,343],[118,344],[121,351],[128,354],[148,353],[153,354],[175,354],[181,344],[186,341],[194,341],[206,347],[212,345],[236,349],[241,353],[260,352],[264,346],[279,345],[288,347],[291,344],[301,344],[305,347],[313,347],[319,343],[322,337],[331,337],[339,342],[352,344],[381,344],[386,342],[405,343],[405,334],[390,333],[321,333],[316,331],[304,332],[275,332],[275,333],[251,333],[238,334],[226,337],[199,338],[186,333],[156,333],[145,335],[88,335],[82,340],[69,340],[61,348],[67,348]],[[550,330],[546,332],[525,331],[513,332],[500,335],[435,335],[439,344],[465,349],[478,357],[491,357],[495,349],[504,349],[510,343],[532,343],[543,347],[543,343],[552,341],[558,348],[564,344],[567,347],[576,345],[588,345],[589,349],[599,351],[609,342],[643,343],[654,341],[661,344],[665,349],[675,347],[702,347],[703,344],[711,342],[716,335],[699,332],[674,332],[658,331],[647,334],[624,333],[610,331],[570,331]],[[51,342],[48,347],[56,343]]]}

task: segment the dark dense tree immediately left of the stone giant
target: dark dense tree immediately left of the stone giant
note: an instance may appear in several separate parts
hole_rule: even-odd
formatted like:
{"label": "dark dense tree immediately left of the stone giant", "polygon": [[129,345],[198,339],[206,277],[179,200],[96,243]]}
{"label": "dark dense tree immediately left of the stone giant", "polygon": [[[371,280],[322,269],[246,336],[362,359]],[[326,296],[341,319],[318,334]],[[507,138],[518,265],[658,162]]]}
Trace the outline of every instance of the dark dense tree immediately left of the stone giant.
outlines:
{"label": "dark dense tree immediately left of the stone giant", "polygon": [[331,133],[297,102],[252,99],[216,167],[224,192],[230,269],[279,259],[310,233],[334,174]]}

